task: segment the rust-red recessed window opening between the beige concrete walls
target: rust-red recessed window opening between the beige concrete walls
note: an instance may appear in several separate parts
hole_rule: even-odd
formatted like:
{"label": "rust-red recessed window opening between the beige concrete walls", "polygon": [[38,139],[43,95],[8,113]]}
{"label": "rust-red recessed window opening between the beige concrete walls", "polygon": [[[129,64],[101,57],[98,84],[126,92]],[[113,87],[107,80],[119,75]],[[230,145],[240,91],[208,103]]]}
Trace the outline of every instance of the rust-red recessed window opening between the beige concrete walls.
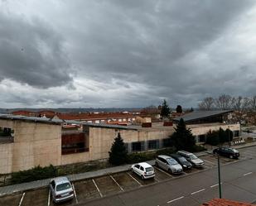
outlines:
{"label": "rust-red recessed window opening between the beige concrete walls", "polygon": [[86,142],[84,133],[65,134],[61,137],[61,154],[73,154],[89,151],[88,142]]}

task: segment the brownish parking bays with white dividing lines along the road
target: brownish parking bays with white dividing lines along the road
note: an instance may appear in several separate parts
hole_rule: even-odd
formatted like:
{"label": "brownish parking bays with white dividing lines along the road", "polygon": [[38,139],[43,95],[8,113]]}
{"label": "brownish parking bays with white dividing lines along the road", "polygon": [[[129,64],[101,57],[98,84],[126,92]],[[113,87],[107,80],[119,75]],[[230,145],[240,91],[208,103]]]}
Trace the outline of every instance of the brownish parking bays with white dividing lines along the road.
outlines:
{"label": "brownish parking bays with white dividing lines along the road", "polygon": [[[240,160],[243,160],[245,158],[253,158],[253,156],[256,156],[256,152],[243,150],[240,151],[240,156]],[[137,189],[147,184],[157,184],[161,181],[176,179],[177,177],[181,177],[182,175],[191,175],[192,173],[200,172],[200,170],[207,170],[217,165],[216,156],[205,155],[200,156],[200,159],[205,161],[205,165],[203,168],[192,168],[191,170],[185,170],[180,175],[169,174],[167,171],[164,171],[154,166],[156,175],[155,178],[151,180],[141,180],[138,175],[135,175],[132,173],[132,171],[128,170],[116,174],[95,177],[94,179],[73,182],[72,184],[75,190],[75,199],[61,205],[72,205],[86,202],[91,199],[100,199],[111,194],[122,193],[123,191],[128,191],[130,189]],[[234,161],[236,160],[231,160],[225,157],[220,158],[221,165],[230,164]],[[49,206],[55,204],[52,203],[49,189],[44,188],[25,191],[22,194],[12,194],[4,196],[0,198],[0,205]]]}

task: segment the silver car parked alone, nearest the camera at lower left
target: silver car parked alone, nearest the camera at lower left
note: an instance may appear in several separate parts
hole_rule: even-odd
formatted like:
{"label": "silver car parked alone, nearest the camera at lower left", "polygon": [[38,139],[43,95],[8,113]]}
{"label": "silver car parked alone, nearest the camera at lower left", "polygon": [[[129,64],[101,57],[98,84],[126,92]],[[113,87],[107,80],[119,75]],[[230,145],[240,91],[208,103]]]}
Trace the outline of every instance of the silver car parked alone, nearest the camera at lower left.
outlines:
{"label": "silver car parked alone, nearest the camera at lower left", "polygon": [[74,190],[66,177],[56,177],[50,181],[51,197],[55,203],[74,198]]}

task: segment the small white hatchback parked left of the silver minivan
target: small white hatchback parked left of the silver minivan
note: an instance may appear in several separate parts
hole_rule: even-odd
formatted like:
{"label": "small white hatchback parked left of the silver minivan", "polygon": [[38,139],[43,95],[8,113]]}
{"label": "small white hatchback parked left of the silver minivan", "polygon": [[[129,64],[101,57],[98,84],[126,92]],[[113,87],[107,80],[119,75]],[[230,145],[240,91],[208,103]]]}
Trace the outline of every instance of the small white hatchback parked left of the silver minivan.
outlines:
{"label": "small white hatchback parked left of the silver minivan", "polygon": [[132,171],[139,175],[142,180],[154,178],[155,177],[155,170],[152,165],[147,164],[147,162],[141,162],[135,165],[132,165]]}

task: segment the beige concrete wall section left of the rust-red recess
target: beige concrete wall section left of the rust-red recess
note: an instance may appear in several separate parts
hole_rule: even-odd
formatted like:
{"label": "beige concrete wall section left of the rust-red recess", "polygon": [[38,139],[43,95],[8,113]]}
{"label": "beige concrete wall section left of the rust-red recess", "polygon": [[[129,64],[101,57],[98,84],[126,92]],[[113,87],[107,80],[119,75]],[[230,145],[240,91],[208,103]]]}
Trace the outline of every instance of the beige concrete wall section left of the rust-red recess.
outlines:
{"label": "beige concrete wall section left of the rust-red recess", "polygon": [[[27,170],[36,165],[60,165],[60,125],[0,120],[0,127],[8,125],[14,130],[14,142],[0,145],[0,156],[8,154],[7,160],[0,160],[0,174]],[[5,149],[1,149],[3,147]],[[4,165],[7,168],[3,169]]]}

